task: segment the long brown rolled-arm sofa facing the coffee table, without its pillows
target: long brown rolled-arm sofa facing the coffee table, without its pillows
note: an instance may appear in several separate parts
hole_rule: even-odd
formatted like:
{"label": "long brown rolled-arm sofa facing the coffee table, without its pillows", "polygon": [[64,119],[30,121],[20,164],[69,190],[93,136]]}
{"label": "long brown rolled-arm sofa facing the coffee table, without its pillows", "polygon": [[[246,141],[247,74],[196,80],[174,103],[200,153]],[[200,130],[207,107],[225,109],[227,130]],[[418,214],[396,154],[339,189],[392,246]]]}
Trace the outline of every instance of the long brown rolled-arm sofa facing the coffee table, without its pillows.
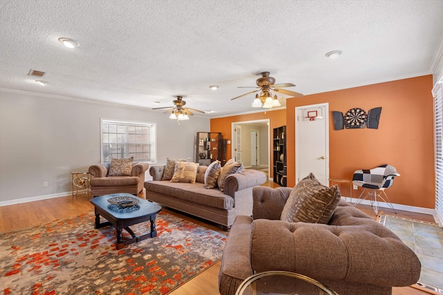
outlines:
{"label": "long brown rolled-arm sofa facing the coffee table, without its pillows", "polygon": [[152,180],[145,182],[146,199],[210,220],[222,225],[225,230],[233,224],[235,216],[251,216],[252,189],[266,182],[266,174],[252,169],[230,174],[221,192],[218,187],[204,187],[207,168],[197,168],[195,183],[183,183],[161,180],[165,165],[150,166]]}

